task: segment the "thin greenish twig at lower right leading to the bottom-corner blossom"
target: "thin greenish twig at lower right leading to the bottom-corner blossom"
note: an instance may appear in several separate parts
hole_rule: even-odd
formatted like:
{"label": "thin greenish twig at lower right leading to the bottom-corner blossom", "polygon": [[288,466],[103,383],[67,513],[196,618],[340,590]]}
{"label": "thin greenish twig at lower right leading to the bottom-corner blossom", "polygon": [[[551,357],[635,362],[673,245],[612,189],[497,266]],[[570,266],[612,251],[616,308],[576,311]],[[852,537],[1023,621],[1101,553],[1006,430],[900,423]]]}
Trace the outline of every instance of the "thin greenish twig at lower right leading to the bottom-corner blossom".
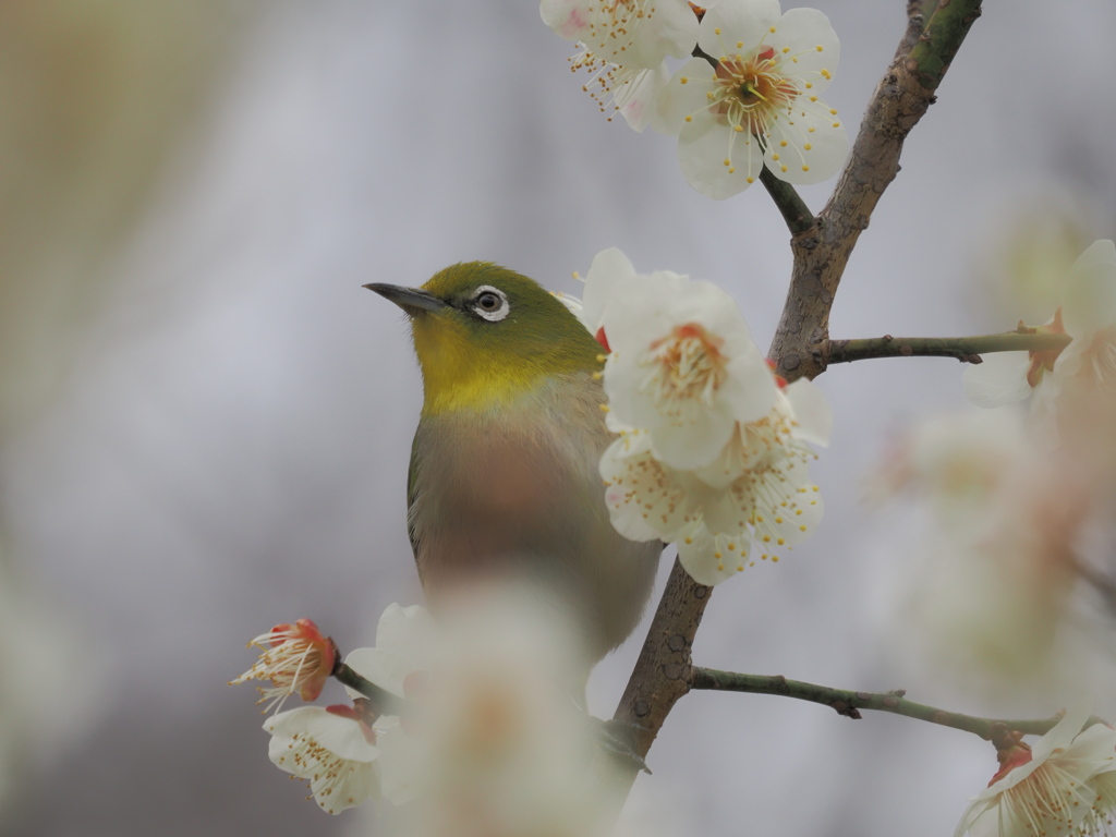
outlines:
{"label": "thin greenish twig at lower right leading to the bottom-corner blossom", "polygon": [[[1013,730],[1024,735],[1043,735],[1054,729],[1061,715],[1038,720],[1000,720],[995,718],[977,718],[961,712],[949,712],[936,706],[908,701],[899,689],[894,692],[852,692],[846,689],[830,689],[814,683],[802,683],[787,680],[781,674],[738,674],[722,672],[715,668],[691,668],[691,689],[719,692],[750,692],[752,694],[776,694],[782,698],[793,698],[799,701],[820,703],[829,706],[837,714],[860,720],[859,710],[891,712],[916,721],[927,721],[941,727],[971,732],[985,741],[991,741],[998,729]],[[1090,718],[1086,725],[1103,723],[1099,718]]]}

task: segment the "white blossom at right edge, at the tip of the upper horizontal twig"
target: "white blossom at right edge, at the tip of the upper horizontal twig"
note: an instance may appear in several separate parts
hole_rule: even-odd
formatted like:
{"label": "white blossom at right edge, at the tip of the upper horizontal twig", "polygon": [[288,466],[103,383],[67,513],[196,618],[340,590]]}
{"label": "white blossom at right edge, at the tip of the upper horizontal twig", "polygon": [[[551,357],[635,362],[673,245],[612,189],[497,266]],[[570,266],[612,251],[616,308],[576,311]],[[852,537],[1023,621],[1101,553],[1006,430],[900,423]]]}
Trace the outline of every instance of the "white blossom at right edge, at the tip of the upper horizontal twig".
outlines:
{"label": "white blossom at right edge, at the tip of the upper horizontal twig", "polygon": [[[1020,324],[1022,326],[1022,324]],[[1039,410],[1057,410],[1065,388],[1114,388],[1116,383],[1116,244],[1100,239],[1069,269],[1061,307],[1036,331],[1067,334],[1064,349],[990,353],[964,372],[965,395],[984,407],[1039,393]],[[1076,382],[1076,383],[1075,383]]]}

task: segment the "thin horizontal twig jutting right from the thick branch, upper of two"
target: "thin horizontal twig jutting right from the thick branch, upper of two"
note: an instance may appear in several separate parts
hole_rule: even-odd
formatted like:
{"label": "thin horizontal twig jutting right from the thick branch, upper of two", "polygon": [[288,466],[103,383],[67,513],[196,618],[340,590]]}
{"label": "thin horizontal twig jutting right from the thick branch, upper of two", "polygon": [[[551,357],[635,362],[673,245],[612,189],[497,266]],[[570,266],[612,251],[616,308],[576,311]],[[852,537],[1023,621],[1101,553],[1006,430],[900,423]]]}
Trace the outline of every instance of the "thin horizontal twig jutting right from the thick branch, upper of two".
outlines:
{"label": "thin horizontal twig jutting right from the thick branch, upper of two", "polygon": [[822,364],[843,364],[873,357],[955,357],[979,364],[988,352],[1049,352],[1069,344],[1065,334],[1006,331],[975,337],[870,337],[862,340],[826,340],[818,347]]}

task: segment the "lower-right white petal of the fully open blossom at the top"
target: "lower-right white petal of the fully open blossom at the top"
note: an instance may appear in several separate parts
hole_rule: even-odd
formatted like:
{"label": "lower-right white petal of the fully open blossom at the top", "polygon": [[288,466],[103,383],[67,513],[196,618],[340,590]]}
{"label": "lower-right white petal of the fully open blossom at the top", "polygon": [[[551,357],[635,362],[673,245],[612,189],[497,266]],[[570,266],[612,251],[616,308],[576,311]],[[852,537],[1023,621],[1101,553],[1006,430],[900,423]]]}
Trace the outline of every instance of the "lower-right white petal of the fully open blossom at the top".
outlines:
{"label": "lower-right white petal of the fully open blossom at the top", "polygon": [[796,185],[829,180],[848,155],[845,123],[825,102],[809,98],[799,96],[789,113],[780,112],[768,125],[767,166],[779,180]]}

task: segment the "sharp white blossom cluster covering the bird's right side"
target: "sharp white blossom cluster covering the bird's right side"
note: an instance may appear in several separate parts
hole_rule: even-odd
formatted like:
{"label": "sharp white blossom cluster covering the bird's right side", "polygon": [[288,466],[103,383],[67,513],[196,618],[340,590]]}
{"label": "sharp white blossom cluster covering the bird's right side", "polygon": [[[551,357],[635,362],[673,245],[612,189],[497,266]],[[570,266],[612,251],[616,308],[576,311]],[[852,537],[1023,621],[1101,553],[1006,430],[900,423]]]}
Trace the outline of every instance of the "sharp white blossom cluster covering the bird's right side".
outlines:
{"label": "sharp white blossom cluster covering the bird's right side", "polygon": [[635,272],[597,254],[581,321],[607,352],[600,460],[605,501],[632,540],[674,542],[690,575],[718,584],[801,541],[821,519],[807,465],[829,406],[809,381],[786,384],[732,297],[670,271]]}

